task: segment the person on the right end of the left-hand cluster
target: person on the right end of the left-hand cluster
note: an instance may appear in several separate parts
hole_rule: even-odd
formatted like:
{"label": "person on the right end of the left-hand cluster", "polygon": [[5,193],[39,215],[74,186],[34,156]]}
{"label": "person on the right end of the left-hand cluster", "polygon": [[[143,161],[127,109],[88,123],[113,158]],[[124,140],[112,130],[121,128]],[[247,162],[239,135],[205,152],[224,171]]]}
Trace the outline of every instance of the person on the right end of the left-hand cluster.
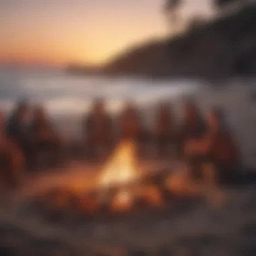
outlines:
{"label": "person on the right end of the left-hand cluster", "polygon": [[33,113],[30,138],[36,167],[38,167],[38,159],[44,157],[46,162],[43,164],[47,166],[57,166],[60,163],[63,153],[61,137],[46,116],[44,108],[40,106],[36,107]]}

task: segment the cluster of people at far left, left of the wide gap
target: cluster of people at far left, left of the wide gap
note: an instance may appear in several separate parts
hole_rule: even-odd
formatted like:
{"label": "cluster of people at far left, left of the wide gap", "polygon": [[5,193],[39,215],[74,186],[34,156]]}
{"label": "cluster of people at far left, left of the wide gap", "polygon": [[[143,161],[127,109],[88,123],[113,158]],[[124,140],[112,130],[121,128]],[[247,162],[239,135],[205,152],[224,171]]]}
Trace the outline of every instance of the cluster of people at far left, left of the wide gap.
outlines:
{"label": "cluster of people at far left, left of the wide gap", "polygon": [[17,186],[25,170],[34,170],[39,156],[61,160],[61,139],[42,106],[19,102],[9,117],[0,113],[0,170],[5,184]]}

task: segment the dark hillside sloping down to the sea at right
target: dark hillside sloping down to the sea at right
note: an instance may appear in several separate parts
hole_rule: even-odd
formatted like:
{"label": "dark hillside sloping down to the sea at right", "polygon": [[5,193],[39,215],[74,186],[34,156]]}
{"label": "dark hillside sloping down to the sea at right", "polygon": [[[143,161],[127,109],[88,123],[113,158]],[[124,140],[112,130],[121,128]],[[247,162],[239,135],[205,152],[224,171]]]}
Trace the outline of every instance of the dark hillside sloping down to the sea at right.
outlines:
{"label": "dark hillside sloping down to the sea at right", "polygon": [[104,67],[108,75],[226,77],[256,73],[256,6],[184,34],[121,53]]}

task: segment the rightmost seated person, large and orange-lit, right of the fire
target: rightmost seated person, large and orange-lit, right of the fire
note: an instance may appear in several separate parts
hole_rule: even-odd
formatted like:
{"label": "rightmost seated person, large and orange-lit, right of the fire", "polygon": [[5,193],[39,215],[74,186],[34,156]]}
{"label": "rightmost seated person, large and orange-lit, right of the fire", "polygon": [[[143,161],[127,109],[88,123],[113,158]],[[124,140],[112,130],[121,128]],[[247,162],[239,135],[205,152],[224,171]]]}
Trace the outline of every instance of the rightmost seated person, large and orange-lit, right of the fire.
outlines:
{"label": "rightmost seated person, large and orange-lit, right of the fire", "polygon": [[207,125],[205,135],[199,139],[192,139],[185,147],[193,176],[201,177],[206,174],[208,177],[210,175],[209,178],[213,182],[226,181],[241,165],[240,152],[230,129],[224,124],[220,110],[213,109],[209,113]]}

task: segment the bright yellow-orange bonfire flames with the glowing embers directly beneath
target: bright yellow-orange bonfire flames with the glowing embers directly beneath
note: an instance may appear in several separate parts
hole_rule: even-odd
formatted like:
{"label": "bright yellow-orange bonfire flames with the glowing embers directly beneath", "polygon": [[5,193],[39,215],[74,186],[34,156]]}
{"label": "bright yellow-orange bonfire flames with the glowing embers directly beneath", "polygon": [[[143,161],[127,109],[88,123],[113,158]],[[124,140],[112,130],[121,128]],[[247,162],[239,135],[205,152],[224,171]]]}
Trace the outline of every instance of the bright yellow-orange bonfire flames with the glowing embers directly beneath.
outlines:
{"label": "bright yellow-orange bonfire flames with the glowing embers directly beneath", "polygon": [[121,141],[99,174],[98,186],[102,189],[102,197],[106,198],[108,191],[116,189],[110,199],[110,208],[115,212],[131,210],[136,201],[150,201],[151,196],[153,204],[161,201],[156,188],[141,189],[143,177],[137,156],[137,146],[133,141]]}

